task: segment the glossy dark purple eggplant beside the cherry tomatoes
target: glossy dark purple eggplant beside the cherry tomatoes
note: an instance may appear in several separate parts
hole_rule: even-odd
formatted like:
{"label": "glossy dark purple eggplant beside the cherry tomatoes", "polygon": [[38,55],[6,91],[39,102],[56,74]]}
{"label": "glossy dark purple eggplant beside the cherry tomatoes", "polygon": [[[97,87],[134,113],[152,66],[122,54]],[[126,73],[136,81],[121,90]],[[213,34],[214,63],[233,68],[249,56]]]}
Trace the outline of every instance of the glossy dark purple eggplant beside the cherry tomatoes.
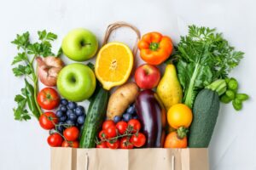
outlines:
{"label": "glossy dark purple eggplant beside the cherry tomatoes", "polygon": [[137,95],[135,107],[147,137],[145,147],[160,148],[162,135],[162,109],[152,90],[143,90]]}

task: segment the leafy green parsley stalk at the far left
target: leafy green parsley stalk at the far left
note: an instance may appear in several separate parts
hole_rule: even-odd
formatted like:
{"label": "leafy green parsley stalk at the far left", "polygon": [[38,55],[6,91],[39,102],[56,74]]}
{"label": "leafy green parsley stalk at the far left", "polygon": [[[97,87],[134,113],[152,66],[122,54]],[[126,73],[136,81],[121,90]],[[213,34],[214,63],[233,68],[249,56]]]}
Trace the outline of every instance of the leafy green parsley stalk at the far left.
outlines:
{"label": "leafy green parsley stalk at the far left", "polygon": [[[39,118],[42,111],[37,102],[38,94],[38,74],[34,69],[34,60],[38,56],[46,57],[54,55],[51,52],[51,42],[57,36],[54,33],[47,31],[38,31],[38,42],[30,41],[28,31],[21,35],[17,35],[12,42],[17,46],[19,53],[15,56],[12,65],[15,65],[13,72],[15,77],[25,77],[25,88],[21,88],[21,94],[15,96],[17,107],[14,108],[15,120],[26,121],[31,119],[31,116]],[[19,65],[18,65],[19,64]],[[28,82],[29,80],[29,82]],[[32,114],[26,110],[28,106]]]}

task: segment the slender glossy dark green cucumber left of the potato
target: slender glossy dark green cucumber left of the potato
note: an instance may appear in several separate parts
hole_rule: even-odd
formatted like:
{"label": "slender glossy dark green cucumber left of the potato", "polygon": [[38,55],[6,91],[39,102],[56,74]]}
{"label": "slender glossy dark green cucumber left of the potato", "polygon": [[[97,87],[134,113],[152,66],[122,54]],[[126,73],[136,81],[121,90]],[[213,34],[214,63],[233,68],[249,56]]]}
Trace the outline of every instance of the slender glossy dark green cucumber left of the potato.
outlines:
{"label": "slender glossy dark green cucumber left of the potato", "polygon": [[90,99],[89,109],[80,138],[80,148],[96,147],[96,136],[106,117],[108,97],[108,91],[99,87]]}

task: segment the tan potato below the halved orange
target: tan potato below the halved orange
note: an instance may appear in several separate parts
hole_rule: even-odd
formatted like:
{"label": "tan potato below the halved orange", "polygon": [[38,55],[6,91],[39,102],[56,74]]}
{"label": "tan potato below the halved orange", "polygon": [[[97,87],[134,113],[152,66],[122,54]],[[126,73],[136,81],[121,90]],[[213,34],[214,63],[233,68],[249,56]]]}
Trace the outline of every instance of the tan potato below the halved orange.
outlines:
{"label": "tan potato below the halved orange", "polygon": [[122,116],[127,107],[131,105],[139,92],[135,82],[127,82],[111,94],[108,101],[107,117],[113,120],[114,116]]}

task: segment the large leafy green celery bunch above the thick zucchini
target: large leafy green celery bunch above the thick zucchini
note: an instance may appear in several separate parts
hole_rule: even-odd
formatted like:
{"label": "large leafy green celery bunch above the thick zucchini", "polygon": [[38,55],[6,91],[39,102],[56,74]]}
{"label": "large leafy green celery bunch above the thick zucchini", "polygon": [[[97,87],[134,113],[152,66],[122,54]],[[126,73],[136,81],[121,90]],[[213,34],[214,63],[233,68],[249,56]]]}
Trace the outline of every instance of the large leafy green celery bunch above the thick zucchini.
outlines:
{"label": "large leafy green celery bunch above the thick zucchini", "polygon": [[221,33],[207,27],[189,26],[189,34],[177,44],[178,78],[183,102],[193,106],[198,91],[218,78],[225,78],[243,57]]}

